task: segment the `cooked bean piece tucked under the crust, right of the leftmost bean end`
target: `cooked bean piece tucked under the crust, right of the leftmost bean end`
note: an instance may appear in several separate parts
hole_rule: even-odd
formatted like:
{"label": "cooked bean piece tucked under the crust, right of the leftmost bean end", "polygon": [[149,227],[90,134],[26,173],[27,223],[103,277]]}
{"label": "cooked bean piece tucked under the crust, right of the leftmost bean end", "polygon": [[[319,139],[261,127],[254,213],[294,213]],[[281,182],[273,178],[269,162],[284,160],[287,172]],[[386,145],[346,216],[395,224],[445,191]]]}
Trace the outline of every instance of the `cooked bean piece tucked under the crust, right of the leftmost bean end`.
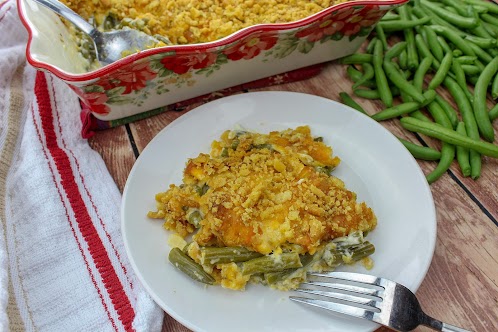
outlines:
{"label": "cooked bean piece tucked under the crust, right of the leftmost bean end", "polygon": [[244,247],[201,247],[201,264],[240,263],[263,256]]}

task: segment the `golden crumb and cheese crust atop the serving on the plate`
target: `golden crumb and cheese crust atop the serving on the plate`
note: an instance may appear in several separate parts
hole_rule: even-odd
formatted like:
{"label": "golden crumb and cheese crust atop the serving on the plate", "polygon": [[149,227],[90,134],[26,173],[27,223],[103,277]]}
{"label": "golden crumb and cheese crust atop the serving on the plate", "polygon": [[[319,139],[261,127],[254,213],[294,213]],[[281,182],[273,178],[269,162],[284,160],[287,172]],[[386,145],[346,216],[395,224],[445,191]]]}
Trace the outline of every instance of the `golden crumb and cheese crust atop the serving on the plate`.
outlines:
{"label": "golden crumb and cheese crust atop the serving on the plate", "polygon": [[183,184],[157,194],[157,211],[148,215],[181,236],[197,229],[193,239],[200,246],[313,254],[336,237],[377,224],[372,209],[330,175],[339,163],[308,126],[269,134],[226,131],[209,155],[188,160]]}

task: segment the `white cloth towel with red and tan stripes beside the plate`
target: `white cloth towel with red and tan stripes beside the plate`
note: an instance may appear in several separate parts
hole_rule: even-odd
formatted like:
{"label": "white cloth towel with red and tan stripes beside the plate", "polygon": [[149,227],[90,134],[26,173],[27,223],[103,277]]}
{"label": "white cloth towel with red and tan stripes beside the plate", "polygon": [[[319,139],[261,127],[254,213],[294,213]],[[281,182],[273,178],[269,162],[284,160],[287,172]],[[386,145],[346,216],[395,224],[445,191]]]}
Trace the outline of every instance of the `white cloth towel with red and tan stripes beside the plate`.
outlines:
{"label": "white cloth towel with red and tan stripes beside the plate", "polygon": [[26,41],[15,1],[0,0],[0,331],[160,331],[78,100],[26,63]]}

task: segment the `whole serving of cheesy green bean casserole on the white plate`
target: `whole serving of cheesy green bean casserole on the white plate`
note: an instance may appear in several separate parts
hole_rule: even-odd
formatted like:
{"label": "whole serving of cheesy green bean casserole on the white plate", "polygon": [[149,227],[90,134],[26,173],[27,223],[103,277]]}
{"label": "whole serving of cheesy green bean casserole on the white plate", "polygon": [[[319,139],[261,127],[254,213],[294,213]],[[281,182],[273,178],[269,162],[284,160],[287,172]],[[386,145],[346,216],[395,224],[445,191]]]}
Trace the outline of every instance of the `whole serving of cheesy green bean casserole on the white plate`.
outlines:
{"label": "whole serving of cheesy green bean casserole on the white plate", "polygon": [[339,163],[308,126],[226,131],[210,154],[187,161],[183,183],[158,193],[148,216],[174,233],[170,262],[206,284],[289,290],[306,272],[370,268],[375,249],[364,236],[377,219],[331,175]]}

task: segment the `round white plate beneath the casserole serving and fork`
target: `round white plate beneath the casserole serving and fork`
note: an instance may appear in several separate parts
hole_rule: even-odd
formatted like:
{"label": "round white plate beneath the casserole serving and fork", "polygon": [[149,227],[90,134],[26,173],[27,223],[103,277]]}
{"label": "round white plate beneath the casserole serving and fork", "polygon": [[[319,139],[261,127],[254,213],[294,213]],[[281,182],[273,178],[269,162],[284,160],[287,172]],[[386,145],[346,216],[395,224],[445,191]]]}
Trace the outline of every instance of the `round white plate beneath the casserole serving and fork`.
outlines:
{"label": "round white plate beneath the casserole serving and fork", "polygon": [[[154,195],[180,184],[187,158],[236,125],[262,133],[309,125],[342,160],[334,171],[358,200],[371,206],[378,226],[368,273],[415,291],[436,241],[431,191],[418,164],[381,125],[340,103],[292,92],[256,92],[204,104],[164,128],[142,152],[126,183],[121,218],[131,264],[152,298],[195,331],[372,331],[377,325],[288,299],[292,292],[249,285],[245,292],[192,281],[168,262],[168,232],[146,217]],[[343,270],[367,272],[362,266]]]}

